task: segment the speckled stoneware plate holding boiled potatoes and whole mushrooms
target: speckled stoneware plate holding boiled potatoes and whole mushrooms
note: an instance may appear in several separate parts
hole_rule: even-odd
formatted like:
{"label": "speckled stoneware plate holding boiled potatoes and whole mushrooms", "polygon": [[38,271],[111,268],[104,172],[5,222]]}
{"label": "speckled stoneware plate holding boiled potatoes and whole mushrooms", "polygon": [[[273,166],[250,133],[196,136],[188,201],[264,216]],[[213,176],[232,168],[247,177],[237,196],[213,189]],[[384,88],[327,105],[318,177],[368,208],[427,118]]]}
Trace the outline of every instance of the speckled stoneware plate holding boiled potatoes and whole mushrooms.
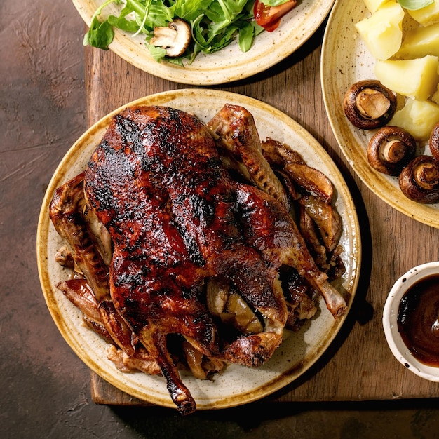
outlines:
{"label": "speckled stoneware plate holding boiled potatoes and whole mushrooms", "polygon": [[439,204],[410,201],[400,191],[398,177],[372,169],[366,156],[371,133],[353,127],[344,115],[346,90],[356,81],[374,79],[374,58],[354,27],[368,15],[363,1],[358,0],[337,0],[330,13],[320,65],[327,116],[344,156],[367,187],[408,217],[439,228]]}

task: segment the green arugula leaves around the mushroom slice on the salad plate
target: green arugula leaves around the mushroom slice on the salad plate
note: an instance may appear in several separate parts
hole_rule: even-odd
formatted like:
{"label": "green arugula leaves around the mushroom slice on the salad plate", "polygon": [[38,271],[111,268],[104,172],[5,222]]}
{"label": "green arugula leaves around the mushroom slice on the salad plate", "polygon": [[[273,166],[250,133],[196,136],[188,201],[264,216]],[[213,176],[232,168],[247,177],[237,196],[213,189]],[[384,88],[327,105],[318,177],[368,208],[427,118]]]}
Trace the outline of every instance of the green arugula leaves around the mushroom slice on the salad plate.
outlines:
{"label": "green arugula leaves around the mushroom slice on the salad plate", "polygon": [[[264,4],[277,6],[287,1],[267,0]],[[112,3],[121,5],[119,16],[109,15],[101,22],[102,10]],[[254,4],[255,0],[107,0],[95,11],[84,44],[107,50],[117,28],[144,34],[147,48],[158,62],[166,59],[178,65],[183,65],[183,60],[191,63],[198,53],[216,52],[236,38],[239,48],[246,52],[255,36],[264,31],[254,20]],[[187,24],[190,41],[184,53],[170,57],[166,45],[154,41],[154,30],[163,29],[172,38],[172,31],[178,32],[171,25],[175,20]]]}

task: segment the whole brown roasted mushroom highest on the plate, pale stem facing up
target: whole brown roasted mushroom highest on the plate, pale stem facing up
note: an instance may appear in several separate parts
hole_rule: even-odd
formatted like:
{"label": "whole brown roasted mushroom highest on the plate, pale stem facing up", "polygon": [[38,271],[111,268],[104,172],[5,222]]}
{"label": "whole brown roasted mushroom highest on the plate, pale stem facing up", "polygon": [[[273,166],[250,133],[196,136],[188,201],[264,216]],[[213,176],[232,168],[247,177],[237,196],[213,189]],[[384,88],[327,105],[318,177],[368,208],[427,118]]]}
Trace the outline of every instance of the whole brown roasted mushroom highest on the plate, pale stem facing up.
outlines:
{"label": "whole brown roasted mushroom highest on the plate, pale stem facing up", "polygon": [[379,128],[395,113],[396,95],[375,79],[358,81],[344,95],[343,109],[353,126]]}

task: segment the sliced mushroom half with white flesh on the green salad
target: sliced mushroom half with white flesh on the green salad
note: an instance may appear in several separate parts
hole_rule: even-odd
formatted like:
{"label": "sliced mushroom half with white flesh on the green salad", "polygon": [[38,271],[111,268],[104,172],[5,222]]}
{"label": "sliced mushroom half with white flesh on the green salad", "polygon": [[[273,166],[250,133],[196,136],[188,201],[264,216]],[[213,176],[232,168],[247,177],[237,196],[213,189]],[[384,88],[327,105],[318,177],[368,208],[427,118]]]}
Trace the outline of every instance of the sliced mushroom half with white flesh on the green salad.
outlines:
{"label": "sliced mushroom half with white flesh on the green salad", "polygon": [[183,55],[191,42],[191,27],[182,20],[176,18],[168,27],[156,27],[154,36],[149,43],[166,49],[166,55],[170,58]]}

